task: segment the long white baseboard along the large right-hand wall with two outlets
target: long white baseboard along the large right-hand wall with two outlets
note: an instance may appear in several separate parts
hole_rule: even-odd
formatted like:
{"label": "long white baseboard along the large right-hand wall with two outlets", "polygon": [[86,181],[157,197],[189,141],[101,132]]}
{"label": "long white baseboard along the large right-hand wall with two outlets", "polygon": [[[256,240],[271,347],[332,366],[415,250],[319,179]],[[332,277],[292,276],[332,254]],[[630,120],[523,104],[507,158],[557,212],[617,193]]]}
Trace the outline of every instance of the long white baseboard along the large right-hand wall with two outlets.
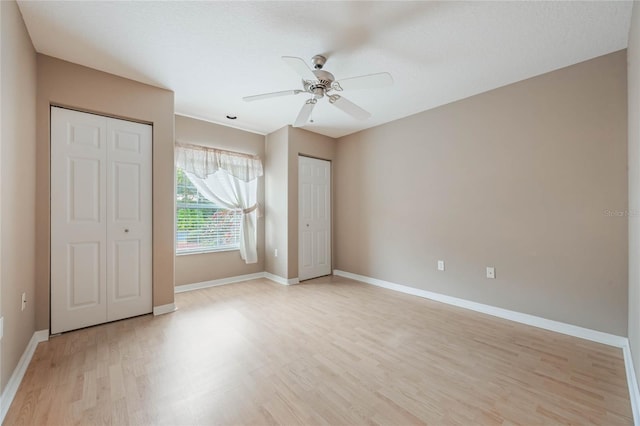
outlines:
{"label": "long white baseboard along the large right-hand wall with two outlets", "polygon": [[533,327],[543,328],[545,330],[555,331],[557,333],[567,334],[569,336],[579,337],[581,339],[591,340],[605,345],[623,348],[627,344],[627,338],[616,336],[615,334],[604,333],[602,331],[591,330],[589,328],[579,327],[573,324],[567,324],[560,321],[554,321],[546,318],[537,317],[535,315],[523,314],[521,312],[510,311],[508,309],[498,308],[491,305],[472,302],[470,300],[459,299],[445,294],[434,293],[427,290],[408,287],[405,285],[391,283],[376,278],[366,277],[364,275],[353,274],[340,270],[334,270],[334,275],[350,278],[352,280],[361,281],[366,284],[387,288],[389,290],[399,291],[401,293],[412,294],[414,296],[424,297],[425,299],[435,300],[437,302],[446,303],[460,308],[469,309],[483,314],[493,315],[494,317],[531,325]]}

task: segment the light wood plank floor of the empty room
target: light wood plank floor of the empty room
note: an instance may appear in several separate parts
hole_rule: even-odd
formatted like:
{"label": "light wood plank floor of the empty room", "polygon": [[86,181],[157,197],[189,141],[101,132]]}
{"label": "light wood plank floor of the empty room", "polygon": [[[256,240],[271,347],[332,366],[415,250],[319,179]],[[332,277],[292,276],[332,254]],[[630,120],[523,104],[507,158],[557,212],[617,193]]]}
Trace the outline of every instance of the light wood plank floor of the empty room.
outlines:
{"label": "light wood plank floor of the empty room", "polygon": [[620,349],[326,277],[41,343],[6,425],[632,424]]}

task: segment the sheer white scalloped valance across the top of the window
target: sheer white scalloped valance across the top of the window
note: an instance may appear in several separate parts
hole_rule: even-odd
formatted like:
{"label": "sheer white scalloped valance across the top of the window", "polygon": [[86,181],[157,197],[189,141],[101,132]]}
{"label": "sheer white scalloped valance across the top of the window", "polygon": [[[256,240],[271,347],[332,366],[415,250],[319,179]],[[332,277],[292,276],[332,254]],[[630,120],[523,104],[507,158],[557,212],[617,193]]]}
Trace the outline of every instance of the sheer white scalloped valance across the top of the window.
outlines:
{"label": "sheer white scalloped valance across the top of the window", "polygon": [[199,145],[176,143],[176,165],[200,179],[224,170],[244,182],[262,176],[262,161],[256,155],[240,154]]}

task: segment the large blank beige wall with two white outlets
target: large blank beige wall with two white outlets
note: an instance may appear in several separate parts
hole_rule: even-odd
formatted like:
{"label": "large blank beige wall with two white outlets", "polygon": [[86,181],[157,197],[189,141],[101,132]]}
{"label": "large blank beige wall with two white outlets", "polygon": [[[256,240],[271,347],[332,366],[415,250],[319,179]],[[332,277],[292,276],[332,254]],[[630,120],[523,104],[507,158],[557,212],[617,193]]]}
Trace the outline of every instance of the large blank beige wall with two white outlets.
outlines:
{"label": "large blank beige wall with two white outlets", "polygon": [[335,266],[625,336],[626,94],[619,51],[339,139]]}

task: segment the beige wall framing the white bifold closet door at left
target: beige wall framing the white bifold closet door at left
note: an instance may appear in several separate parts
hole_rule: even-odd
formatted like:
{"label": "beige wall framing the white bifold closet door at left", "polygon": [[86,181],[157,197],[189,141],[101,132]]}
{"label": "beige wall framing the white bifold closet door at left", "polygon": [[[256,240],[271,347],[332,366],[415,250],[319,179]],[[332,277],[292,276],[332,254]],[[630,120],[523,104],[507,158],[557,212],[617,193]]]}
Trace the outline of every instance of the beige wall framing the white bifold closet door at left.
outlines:
{"label": "beige wall framing the white bifold closet door at left", "polygon": [[49,328],[49,106],[153,125],[153,305],[173,303],[173,92],[38,55],[36,326]]}

